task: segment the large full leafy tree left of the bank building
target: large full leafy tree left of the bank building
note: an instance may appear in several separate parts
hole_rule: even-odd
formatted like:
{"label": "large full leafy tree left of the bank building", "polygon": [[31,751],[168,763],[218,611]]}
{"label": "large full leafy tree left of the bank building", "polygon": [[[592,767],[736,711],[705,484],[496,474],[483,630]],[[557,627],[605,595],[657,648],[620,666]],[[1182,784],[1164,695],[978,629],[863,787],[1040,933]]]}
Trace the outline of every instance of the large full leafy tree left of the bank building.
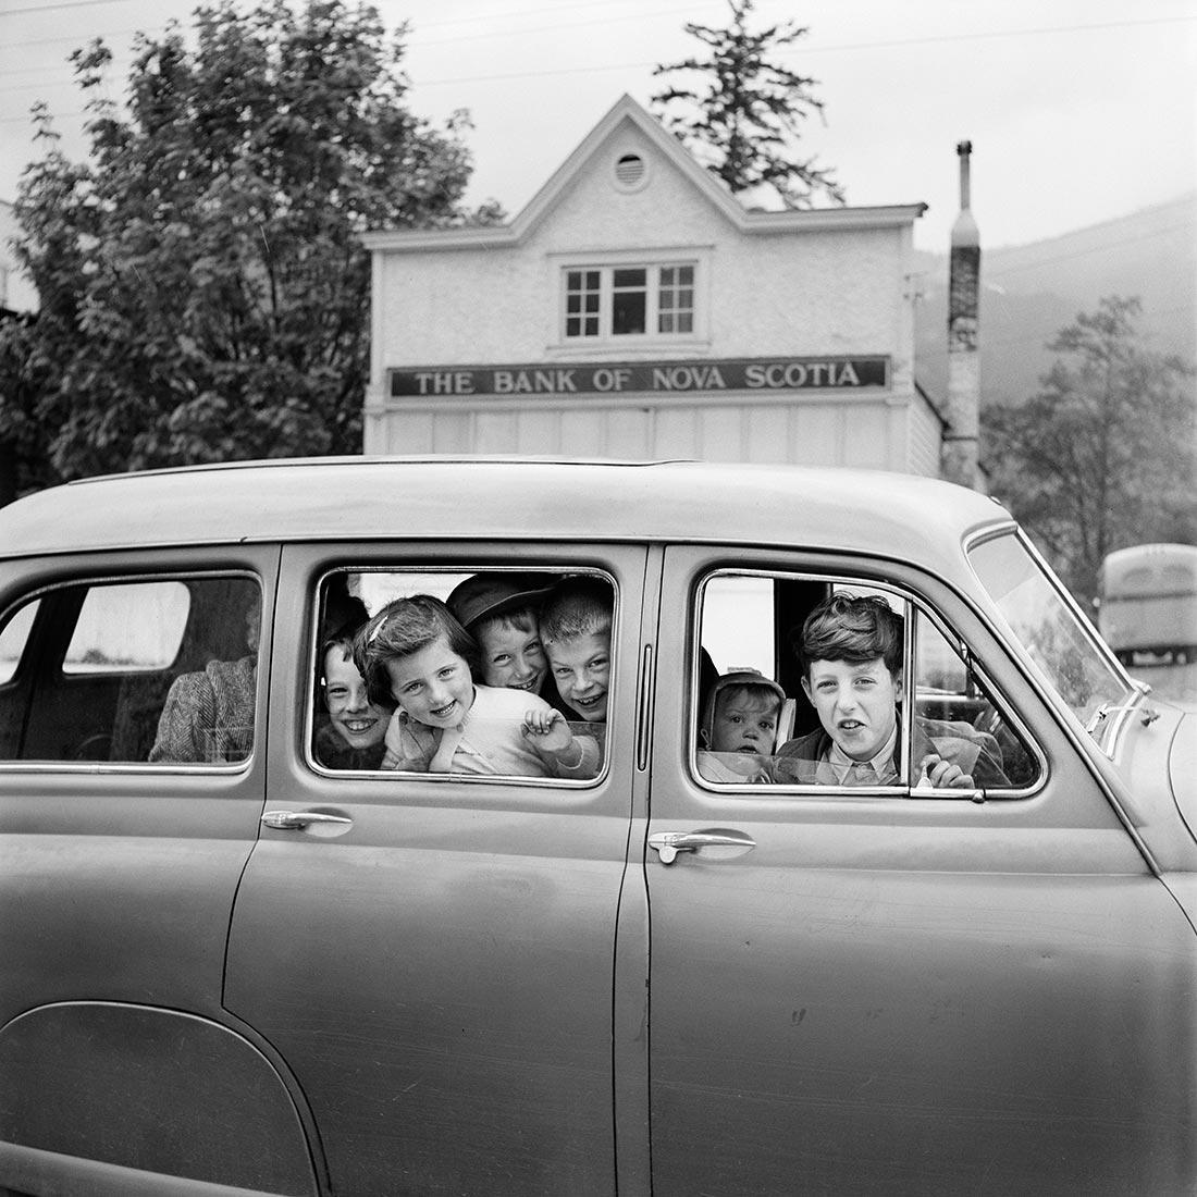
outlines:
{"label": "large full leafy tree left of the bank building", "polygon": [[40,114],[16,213],[42,306],[0,330],[0,361],[30,342],[0,427],[48,430],[62,478],[360,451],[359,235],[500,214],[460,206],[464,114],[438,130],[405,108],[405,31],[342,0],[223,0],[193,49],[175,25],[139,35],[123,110],[101,98],[107,47],[77,51],[91,154],[67,160]]}

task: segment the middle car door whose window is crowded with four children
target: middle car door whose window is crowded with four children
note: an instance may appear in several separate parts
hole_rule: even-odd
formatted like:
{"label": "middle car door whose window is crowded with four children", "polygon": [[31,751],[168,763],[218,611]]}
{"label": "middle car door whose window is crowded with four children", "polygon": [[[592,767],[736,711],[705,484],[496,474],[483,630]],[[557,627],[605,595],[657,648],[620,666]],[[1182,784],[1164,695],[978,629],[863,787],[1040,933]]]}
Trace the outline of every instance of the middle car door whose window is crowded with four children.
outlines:
{"label": "middle car door whose window is crowded with four children", "polygon": [[[267,825],[237,897],[225,1004],[293,1070],[334,1192],[614,1187],[613,960],[645,555],[533,542],[284,549]],[[309,745],[328,630],[317,622],[338,570],[373,614],[388,595],[444,596],[496,569],[613,587],[601,774],[321,767]],[[281,830],[280,812],[303,818]]]}

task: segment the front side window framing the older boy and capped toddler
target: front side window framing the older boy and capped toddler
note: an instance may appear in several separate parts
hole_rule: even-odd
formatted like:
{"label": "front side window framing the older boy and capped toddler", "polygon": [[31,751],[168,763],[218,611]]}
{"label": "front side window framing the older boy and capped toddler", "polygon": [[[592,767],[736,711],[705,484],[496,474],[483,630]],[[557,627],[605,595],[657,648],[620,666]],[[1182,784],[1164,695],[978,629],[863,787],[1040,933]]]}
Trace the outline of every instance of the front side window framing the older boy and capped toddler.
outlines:
{"label": "front side window framing the older boy and capped toddler", "polygon": [[899,590],[721,572],[698,603],[704,782],[937,797],[1037,784],[1039,757],[966,648]]}

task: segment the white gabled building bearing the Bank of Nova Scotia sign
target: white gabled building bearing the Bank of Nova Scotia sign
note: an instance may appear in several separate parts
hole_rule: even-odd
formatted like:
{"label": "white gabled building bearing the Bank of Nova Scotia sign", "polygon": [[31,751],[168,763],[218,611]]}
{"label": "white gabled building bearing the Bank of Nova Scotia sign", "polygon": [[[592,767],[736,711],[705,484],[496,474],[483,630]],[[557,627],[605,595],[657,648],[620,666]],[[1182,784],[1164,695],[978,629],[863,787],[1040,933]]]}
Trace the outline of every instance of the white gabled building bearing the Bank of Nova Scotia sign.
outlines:
{"label": "white gabled building bearing the Bank of Nova Scotia sign", "polygon": [[746,211],[625,96],[510,224],[366,235],[364,449],[937,474],[924,209]]}

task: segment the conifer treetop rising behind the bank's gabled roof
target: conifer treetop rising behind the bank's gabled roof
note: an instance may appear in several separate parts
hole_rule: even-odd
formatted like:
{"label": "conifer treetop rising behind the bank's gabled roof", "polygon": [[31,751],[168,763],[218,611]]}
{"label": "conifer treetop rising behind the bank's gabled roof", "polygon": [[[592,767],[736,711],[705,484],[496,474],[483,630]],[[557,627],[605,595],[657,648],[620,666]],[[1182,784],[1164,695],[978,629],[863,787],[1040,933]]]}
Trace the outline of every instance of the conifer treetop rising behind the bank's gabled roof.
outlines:
{"label": "conifer treetop rising behind the bank's gabled roof", "polygon": [[675,85],[652,97],[666,128],[734,192],[771,186],[788,207],[808,208],[822,193],[836,203],[844,190],[815,158],[796,157],[801,124],[824,115],[812,90],[816,79],[770,61],[809,30],[792,20],[758,34],[747,28],[753,0],[728,0],[727,29],[687,23],[686,32],[710,48],[705,59],[657,66],[655,75],[703,77],[703,84]]}

